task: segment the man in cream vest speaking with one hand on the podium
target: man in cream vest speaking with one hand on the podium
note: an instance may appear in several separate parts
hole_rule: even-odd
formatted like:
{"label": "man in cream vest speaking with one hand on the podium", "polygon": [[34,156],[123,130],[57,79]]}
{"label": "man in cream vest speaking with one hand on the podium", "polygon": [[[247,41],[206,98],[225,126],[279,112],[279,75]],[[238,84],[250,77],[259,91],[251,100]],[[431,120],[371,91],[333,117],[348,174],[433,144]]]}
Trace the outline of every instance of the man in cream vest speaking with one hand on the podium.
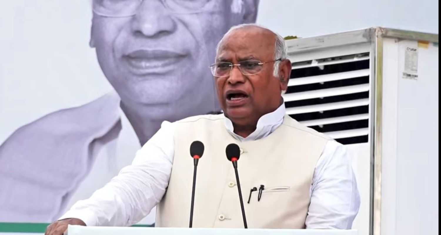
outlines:
{"label": "man in cream vest speaking with one hand on the podium", "polygon": [[188,150],[195,140],[205,152],[193,227],[243,228],[234,170],[225,157],[225,147],[236,143],[243,198],[250,199],[249,228],[351,228],[360,200],[350,158],[343,145],[285,114],[281,94],[291,73],[286,57],[283,38],[271,30],[230,29],[210,66],[224,114],[164,122],[130,166],[78,201],[46,234],[61,234],[67,224],[129,226],[155,205],[157,226],[187,227],[193,178]]}

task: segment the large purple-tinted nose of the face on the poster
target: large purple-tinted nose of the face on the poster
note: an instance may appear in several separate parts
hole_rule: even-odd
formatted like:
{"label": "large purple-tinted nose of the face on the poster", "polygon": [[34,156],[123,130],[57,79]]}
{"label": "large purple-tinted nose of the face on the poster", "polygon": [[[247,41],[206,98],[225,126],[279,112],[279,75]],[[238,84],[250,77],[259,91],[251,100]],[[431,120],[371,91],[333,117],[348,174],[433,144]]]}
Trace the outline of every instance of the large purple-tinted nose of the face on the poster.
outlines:
{"label": "large purple-tinted nose of the face on the poster", "polygon": [[161,33],[172,33],[176,22],[160,0],[146,0],[139,6],[132,20],[133,32],[147,37]]}

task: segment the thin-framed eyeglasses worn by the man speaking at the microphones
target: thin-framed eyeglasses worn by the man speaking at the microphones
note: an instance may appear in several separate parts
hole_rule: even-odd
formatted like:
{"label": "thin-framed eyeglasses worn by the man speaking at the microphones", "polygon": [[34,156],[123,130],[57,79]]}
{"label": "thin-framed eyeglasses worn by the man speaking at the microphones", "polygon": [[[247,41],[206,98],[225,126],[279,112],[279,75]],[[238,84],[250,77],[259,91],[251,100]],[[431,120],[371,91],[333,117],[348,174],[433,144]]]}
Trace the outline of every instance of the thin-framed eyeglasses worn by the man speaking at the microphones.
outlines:
{"label": "thin-framed eyeglasses worn by the man speaking at the microphones", "polygon": [[213,76],[215,77],[228,77],[234,66],[239,67],[239,71],[243,75],[255,75],[262,71],[262,67],[265,63],[272,63],[281,60],[281,58],[268,62],[262,62],[260,60],[244,60],[239,62],[238,64],[230,62],[219,62],[210,65],[210,69],[211,74],[213,74]]}

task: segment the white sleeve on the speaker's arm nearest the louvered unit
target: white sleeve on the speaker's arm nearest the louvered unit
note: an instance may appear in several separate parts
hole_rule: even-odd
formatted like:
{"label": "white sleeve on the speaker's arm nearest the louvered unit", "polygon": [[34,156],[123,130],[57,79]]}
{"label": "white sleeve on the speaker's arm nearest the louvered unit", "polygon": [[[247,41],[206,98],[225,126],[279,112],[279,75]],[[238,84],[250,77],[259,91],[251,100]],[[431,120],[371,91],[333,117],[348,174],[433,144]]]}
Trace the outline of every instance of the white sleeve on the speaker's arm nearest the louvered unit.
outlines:
{"label": "white sleeve on the speaker's arm nearest the louvered unit", "polygon": [[351,158],[344,145],[329,141],[314,169],[306,228],[350,229],[359,207]]}

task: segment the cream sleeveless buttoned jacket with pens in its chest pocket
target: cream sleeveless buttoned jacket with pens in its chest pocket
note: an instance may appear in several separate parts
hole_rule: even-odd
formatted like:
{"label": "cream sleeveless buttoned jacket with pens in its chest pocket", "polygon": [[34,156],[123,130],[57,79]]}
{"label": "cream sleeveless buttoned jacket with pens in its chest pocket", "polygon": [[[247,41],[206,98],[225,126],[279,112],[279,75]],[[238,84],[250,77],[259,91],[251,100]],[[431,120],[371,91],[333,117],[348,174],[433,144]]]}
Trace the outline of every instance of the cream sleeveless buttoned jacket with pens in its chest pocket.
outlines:
{"label": "cream sleeveless buttoned jacket with pens in its chest pocket", "polygon": [[[331,138],[286,115],[267,137],[240,142],[224,119],[223,114],[202,115],[176,122],[172,173],[156,226],[188,227],[194,169],[189,149],[199,140],[205,152],[198,164],[194,228],[243,228],[235,173],[225,156],[230,143],[241,149],[238,171],[248,228],[305,228],[314,168]],[[247,203],[250,189],[260,185],[265,186],[260,201],[254,191]]]}

